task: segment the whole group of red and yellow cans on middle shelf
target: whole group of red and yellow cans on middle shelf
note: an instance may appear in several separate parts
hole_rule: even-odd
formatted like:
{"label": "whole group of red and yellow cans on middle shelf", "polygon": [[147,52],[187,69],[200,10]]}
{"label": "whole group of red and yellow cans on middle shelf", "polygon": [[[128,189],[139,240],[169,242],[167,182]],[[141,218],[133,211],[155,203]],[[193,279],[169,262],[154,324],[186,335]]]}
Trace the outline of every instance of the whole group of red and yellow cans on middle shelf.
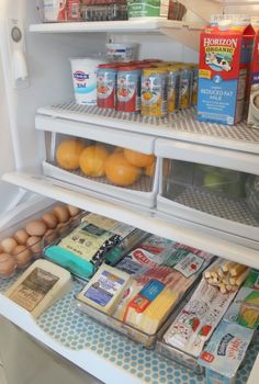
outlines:
{"label": "whole group of red and yellow cans on middle shelf", "polygon": [[102,64],[97,74],[97,103],[102,109],[162,117],[196,105],[198,66],[147,59]]}

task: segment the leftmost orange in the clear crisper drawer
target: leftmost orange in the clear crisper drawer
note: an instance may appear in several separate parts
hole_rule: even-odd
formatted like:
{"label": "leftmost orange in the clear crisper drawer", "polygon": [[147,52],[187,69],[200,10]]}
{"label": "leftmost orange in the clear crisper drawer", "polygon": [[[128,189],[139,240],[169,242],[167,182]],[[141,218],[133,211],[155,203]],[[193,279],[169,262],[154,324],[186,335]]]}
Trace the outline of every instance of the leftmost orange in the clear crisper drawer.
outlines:
{"label": "leftmost orange in the clear crisper drawer", "polygon": [[78,139],[61,142],[56,151],[56,160],[59,167],[72,170],[79,168],[79,157],[85,145]]}

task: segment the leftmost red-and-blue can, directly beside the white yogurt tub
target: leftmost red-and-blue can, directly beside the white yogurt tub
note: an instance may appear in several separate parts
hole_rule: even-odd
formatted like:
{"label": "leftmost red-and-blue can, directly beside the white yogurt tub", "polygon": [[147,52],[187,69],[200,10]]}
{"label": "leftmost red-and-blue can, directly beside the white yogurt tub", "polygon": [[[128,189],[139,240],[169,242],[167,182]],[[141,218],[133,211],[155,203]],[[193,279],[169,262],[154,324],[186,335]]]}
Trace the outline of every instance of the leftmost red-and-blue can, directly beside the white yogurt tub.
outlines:
{"label": "leftmost red-and-blue can, directly beside the white yogurt tub", "polygon": [[115,65],[100,65],[97,74],[97,104],[99,108],[113,109],[116,106],[116,75]]}

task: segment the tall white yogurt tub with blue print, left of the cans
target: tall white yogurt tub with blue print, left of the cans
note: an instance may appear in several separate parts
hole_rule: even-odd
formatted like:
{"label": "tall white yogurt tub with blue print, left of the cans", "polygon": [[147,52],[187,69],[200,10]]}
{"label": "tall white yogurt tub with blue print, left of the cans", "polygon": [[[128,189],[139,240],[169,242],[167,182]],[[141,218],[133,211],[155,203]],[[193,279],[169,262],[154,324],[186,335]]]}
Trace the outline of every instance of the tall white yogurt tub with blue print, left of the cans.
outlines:
{"label": "tall white yogurt tub with blue print, left of the cans", "polygon": [[103,59],[70,58],[75,99],[78,104],[97,104],[97,70]]}

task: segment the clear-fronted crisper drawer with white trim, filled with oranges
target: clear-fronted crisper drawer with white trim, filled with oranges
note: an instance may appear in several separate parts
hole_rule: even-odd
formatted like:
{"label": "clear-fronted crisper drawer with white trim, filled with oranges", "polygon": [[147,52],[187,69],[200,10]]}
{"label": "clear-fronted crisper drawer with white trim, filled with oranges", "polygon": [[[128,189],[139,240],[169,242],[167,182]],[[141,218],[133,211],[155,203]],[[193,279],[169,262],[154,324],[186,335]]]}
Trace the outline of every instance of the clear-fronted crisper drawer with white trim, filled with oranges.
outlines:
{"label": "clear-fronted crisper drawer with white trim, filled with oranges", "polygon": [[36,127],[48,131],[45,176],[122,201],[155,205],[155,137],[46,116],[36,117]]}

